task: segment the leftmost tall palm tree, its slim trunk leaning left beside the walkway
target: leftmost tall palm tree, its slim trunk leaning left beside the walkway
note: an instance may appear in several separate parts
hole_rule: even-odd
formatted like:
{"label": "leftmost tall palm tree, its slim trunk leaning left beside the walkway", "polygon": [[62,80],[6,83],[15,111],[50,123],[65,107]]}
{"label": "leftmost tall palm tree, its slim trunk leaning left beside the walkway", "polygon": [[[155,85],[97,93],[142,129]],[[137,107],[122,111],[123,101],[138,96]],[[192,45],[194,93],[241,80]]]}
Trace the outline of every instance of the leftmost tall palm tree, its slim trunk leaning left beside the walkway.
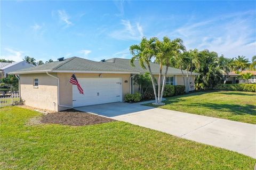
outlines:
{"label": "leftmost tall palm tree, its slim trunk leaning left beside the walkway", "polygon": [[155,57],[155,42],[156,42],[156,40],[157,40],[156,37],[150,38],[149,40],[146,37],[143,37],[139,44],[134,44],[134,45],[130,46],[130,53],[132,54],[130,63],[131,63],[131,66],[134,67],[135,66],[134,61],[138,60],[140,63],[140,66],[143,69],[146,69],[145,64],[147,65],[149,73],[150,73],[150,77],[151,77],[151,82],[153,85],[155,101],[157,103],[156,85],[155,85],[154,76],[152,74],[151,67],[150,67],[151,59],[153,59]]}

